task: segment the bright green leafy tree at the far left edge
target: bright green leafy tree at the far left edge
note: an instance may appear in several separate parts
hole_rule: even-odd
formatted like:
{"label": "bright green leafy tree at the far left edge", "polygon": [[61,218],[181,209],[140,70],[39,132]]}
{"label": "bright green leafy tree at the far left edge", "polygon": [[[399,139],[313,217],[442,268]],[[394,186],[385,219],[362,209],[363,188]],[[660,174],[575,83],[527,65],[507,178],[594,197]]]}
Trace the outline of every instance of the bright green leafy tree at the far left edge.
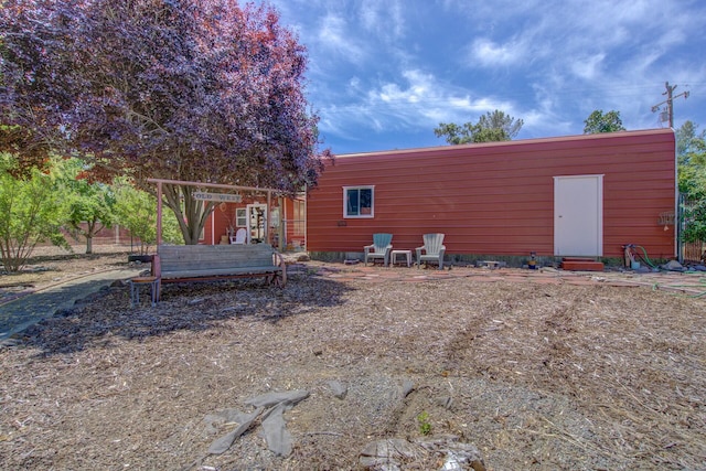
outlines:
{"label": "bright green leafy tree at the far left edge", "polygon": [[0,153],[0,256],[7,271],[19,271],[40,242],[69,248],[60,202],[52,174]]}

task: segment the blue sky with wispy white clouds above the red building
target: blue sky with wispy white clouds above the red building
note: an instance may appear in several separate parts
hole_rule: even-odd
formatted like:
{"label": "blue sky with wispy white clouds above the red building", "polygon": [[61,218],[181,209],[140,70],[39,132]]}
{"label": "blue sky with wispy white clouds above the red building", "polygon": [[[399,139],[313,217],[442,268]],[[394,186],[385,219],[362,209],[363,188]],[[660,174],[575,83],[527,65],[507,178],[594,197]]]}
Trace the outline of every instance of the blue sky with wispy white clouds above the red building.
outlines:
{"label": "blue sky with wispy white clouds above the red building", "polygon": [[[307,95],[336,153],[441,146],[439,122],[500,109],[516,139],[580,135],[595,109],[629,130],[706,129],[703,0],[271,0],[308,49]],[[664,108],[664,106],[663,106]],[[664,108],[666,109],[666,108]]]}

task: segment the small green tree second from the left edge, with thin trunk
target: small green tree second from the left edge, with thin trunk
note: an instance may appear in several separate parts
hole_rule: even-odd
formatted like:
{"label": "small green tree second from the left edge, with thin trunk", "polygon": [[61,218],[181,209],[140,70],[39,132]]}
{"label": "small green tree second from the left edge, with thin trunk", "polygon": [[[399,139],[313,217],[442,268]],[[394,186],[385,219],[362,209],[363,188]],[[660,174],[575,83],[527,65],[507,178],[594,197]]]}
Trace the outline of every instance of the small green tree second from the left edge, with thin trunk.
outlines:
{"label": "small green tree second from the left edge, with thin trunk", "polygon": [[79,159],[62,162],[61,183],[65,190],[66,224],[86,240],[86,254],[93,254],[93,238],[103,228],[113,227],[115,195],[109,185],[89,181],[86,164]]}

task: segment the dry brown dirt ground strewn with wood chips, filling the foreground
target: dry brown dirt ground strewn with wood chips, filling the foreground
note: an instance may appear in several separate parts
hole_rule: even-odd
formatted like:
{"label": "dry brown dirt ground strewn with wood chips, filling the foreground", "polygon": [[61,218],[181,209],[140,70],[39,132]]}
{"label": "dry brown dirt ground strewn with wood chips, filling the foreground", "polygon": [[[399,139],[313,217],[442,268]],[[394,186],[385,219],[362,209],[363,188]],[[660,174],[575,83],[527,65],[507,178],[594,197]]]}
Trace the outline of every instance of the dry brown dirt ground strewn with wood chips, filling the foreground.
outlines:
{"label": "dry brown dirt ground strewn with wood chips, filling the foreground", "polygon": [[[35,261],[41,287],[127,257]],[[115,287],[30,328],[0,349],[0,468],[353,470],[399,439],[373,469],[706,469],[704,297],[347,269],[165,285],[156,308]],[[214,414],[288,390],[309,393],[284,414],[288,456],[261,416],[208,453],[238,425]]]}

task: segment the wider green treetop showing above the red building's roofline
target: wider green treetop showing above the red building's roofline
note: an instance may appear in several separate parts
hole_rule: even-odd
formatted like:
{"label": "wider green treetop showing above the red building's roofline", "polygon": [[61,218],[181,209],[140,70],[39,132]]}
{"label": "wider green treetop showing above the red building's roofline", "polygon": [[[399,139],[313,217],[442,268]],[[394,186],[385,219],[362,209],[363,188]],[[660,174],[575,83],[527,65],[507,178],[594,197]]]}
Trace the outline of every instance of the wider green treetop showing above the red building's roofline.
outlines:
{"label": "wider green treetop showing above the red building's roofline", "polygon": [[440,122],[434,129],[434,133],[438,138],[446,138],[446,141],[450,144],[509,141],[517,136],[523,125],[522,119],[515,120],[515,118],[496,109],[493,113],[488,111],[481,116],[475,124]]}

